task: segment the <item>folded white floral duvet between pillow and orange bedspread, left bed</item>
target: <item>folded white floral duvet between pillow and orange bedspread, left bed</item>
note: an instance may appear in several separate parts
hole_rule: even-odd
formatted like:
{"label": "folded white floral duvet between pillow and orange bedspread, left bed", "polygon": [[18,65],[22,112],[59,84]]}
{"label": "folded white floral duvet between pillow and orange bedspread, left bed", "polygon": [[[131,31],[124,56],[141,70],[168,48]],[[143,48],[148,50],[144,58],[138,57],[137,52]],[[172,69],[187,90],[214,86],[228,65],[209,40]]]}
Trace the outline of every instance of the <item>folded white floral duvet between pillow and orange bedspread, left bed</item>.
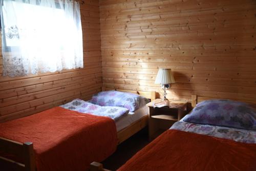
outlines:
{"label": "folded white floral duvet between pillow and orange bedspread, left bed", "polygon": [[126,108],[120,108],[117,106],[99,106],[81,99],[75,99],[69,103],[60,105],[60,107],[80,113],[110,117],[115,121],[129,113],[129,110]]}

